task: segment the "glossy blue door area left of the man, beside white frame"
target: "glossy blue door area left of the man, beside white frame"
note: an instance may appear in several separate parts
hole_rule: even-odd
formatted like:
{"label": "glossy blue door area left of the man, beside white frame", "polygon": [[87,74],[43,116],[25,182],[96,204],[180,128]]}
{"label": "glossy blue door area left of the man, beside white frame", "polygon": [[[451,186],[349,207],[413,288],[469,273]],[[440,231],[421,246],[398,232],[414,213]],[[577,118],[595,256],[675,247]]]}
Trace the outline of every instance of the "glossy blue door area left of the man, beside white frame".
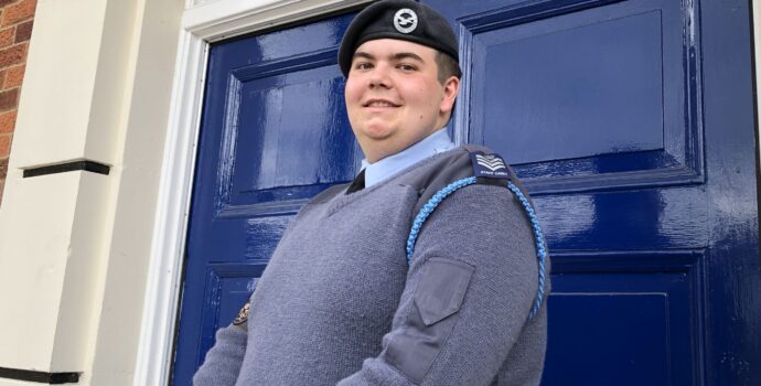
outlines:
{"label": "glossy blue door area left of the man, beside white frame", "polygon": [[357,171],[335,60],[351,18],[211,46],[174,385],[191,384],[296,211]]}

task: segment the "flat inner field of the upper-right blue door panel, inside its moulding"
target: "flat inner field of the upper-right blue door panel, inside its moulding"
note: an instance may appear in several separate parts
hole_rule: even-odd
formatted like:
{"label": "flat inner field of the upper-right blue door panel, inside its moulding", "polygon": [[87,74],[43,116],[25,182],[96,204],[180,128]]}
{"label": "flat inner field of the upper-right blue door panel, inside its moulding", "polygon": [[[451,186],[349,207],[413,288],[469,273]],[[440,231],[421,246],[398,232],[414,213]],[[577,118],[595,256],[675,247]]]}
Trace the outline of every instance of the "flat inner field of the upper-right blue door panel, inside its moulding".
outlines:
{"label": "flat inner field of the upper-right blue door panel, inside its moulding", "polygon": [[473,36],[484,60],[472,67],[471,139],[516,165],[663,149],[662,13],[626,8],[597,22],[594,11]]}

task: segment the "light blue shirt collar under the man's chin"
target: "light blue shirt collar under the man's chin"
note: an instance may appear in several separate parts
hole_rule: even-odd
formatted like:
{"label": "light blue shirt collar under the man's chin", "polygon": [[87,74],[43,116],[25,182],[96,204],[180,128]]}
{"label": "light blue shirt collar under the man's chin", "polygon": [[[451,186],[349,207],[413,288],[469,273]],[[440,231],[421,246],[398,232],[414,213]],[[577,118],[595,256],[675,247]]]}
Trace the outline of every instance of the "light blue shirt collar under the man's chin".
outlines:
{"label": "light blue shirt collar under the man's chin", "polygon": [[426,137],[421,141],[401,150],[400,152],[386,157],[377,162],[369,163],[367,159],[362,160],[362,169],[365,170],[365,187],[369,187],[401,170],[411,167],[429,157],[454,149],[454,143],[449,138],[447,128],[440,129]]}

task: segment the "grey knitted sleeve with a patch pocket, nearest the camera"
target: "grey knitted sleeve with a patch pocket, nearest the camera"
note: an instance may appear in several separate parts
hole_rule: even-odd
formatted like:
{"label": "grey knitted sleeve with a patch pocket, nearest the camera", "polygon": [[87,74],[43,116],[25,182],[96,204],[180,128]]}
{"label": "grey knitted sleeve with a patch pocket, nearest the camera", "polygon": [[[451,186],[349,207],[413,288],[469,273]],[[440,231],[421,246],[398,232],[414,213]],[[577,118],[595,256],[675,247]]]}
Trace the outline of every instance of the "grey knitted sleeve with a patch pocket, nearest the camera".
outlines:
{"label": "grey knitted sleeve with a patch pocket, nearest the camera", "polygon": [[538,286],[529,222],[505,187],[470,185],[430,215],[382,352],[339,383],[490,385]]}

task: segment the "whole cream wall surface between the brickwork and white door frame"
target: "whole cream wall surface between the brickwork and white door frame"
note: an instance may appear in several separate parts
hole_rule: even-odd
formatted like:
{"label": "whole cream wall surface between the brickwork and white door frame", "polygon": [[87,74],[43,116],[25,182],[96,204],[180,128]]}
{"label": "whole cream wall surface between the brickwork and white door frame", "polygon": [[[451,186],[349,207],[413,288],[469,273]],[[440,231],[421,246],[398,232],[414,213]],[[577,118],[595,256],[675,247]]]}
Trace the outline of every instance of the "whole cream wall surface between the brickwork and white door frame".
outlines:
{"label": "whole cream wall surface between the brickwork and white door frame", "polygon": [[[37,2],[0,207],[0,366],[132,382],[183,6]],[[81,159],[110,174],[22,178]]]}

